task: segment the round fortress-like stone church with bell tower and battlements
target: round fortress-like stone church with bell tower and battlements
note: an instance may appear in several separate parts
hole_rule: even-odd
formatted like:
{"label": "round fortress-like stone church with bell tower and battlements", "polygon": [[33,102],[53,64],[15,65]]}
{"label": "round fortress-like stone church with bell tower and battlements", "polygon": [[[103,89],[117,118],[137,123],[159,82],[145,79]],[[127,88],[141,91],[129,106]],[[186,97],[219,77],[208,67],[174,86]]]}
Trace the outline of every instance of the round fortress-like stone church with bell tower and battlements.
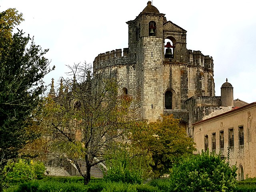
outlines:
{"label": "round fortress-like stone church with bell tower and battlements", "polygon": [[155,121],[160,114],[174,114],[192,136],[194,122],[220,106],[233,106],[228,82],[223,96],[215,96],[212,57],[187,49],[187,31],[168,21],[150,1],[126,23],[128,48],[98,54],[93,69],[118,76],[138,116]]}

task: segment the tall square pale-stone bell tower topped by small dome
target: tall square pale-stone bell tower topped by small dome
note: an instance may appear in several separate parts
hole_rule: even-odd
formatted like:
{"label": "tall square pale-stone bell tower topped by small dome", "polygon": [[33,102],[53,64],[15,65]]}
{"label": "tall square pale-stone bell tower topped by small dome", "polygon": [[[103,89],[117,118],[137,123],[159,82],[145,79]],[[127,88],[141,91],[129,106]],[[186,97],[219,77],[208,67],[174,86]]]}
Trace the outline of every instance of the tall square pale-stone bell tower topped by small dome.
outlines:
{"label": "tall square pale-stone bell tower topped by small dome", "polygon": [[129,53],[135,57],[136,101],[141,115],[156,120],[163,112],[163,20],[149,1],[129,28]]}

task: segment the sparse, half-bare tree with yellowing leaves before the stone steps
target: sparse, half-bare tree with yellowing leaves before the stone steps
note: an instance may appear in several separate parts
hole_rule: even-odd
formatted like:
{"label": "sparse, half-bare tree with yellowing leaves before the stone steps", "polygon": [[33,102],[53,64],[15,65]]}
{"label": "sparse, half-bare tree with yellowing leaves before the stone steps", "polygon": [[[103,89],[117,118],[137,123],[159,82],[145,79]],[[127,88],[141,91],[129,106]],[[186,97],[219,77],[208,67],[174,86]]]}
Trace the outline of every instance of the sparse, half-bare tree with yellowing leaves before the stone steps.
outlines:
{"label": "sparse, half-bare tree with yellowing leaves before the stone steps", "polygon": [[[48,120],[52,130],[50,150],[73,162],[88,184],[91,167],[124,142],[132,120],[128,108],[131,98],[120,94],[120,82],[114,74],[98,71],[91,76],[86,64],[70,69],[72,78],[65,81],[65,91],[60,86],[53,107],[57,110]],[[86,172],[82,172],[78,160],[84,161]]]}

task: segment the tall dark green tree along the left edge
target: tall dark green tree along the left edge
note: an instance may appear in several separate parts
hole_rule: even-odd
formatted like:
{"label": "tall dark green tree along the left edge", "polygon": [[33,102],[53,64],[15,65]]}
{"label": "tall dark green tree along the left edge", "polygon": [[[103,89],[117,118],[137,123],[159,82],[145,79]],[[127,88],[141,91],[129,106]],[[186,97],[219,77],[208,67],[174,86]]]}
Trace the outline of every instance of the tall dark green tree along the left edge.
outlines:
{"label": "tall dark green tree along the left edge", "polygon": [[[38,135],[29,127],[44,92],[42,78],[51,71],[44,57],[48,50],[34,44],[22,31],[12,29],[22,21],[15,9],[0,13],[0,175],[9,159]],[[2,186],[2,185],[1,185]],[[0,187],[1,190],[1,187]]]}

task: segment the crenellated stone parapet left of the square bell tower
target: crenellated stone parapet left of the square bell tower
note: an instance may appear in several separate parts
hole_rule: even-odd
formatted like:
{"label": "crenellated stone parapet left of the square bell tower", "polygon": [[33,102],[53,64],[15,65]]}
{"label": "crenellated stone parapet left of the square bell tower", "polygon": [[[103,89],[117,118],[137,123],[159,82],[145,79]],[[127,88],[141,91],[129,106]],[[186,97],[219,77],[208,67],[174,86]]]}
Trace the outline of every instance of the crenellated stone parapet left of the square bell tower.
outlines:
{"label": "crenellated stone parapet left of the square bell tower", "polygon": [[122,49],[116,49],[98,54],[93,62],[94,70],[117,65],[135,64],[136,58],[135,56],[130,56],[128,50],[129,48],[124,48],[123,51]]}

